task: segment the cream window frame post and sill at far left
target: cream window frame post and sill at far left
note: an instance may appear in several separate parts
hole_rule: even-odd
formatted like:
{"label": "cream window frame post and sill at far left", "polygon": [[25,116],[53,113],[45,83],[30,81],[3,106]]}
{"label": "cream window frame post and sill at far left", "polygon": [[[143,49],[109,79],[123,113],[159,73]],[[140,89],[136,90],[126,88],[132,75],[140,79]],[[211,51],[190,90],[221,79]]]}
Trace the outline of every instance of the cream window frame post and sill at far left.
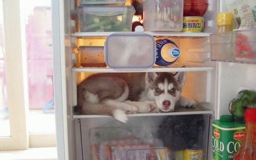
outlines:
{"label": "cream window frame post and sill at far left", "polygon": [[[56,147],[56,133],[29,133],[25,24],[20,0],[2,0],[4,16],[5,65],[10,120],[9,137],[0,137],[0,151],[34,147]],[[24,43],[24,44],[23,44]]]}

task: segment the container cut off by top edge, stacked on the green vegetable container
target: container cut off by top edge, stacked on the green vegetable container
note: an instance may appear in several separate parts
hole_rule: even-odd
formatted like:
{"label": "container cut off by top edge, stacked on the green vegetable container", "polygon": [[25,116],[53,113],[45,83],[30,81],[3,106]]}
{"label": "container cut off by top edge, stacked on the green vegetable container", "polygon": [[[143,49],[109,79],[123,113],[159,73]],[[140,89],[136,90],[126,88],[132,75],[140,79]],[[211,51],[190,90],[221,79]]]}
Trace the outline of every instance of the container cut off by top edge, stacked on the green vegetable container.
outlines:
{"label": "container cut off by top edge, stacked on the green vegetable container", "polygon": [[124,5],[125,0],[79,0],[80,5]]}

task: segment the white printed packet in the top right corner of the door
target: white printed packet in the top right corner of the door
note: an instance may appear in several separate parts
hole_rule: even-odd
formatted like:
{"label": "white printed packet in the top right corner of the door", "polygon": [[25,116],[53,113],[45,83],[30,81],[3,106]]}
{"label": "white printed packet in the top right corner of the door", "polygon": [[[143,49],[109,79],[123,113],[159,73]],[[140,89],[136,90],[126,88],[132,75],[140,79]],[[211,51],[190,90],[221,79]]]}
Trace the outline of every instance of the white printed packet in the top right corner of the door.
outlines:
{"label": "white printed packet in the top right corner of the door", "polygon": [[227,0],[226,8],[233,15],[236,29],[244,30],[256,28],[256,1],[255,0]]}

